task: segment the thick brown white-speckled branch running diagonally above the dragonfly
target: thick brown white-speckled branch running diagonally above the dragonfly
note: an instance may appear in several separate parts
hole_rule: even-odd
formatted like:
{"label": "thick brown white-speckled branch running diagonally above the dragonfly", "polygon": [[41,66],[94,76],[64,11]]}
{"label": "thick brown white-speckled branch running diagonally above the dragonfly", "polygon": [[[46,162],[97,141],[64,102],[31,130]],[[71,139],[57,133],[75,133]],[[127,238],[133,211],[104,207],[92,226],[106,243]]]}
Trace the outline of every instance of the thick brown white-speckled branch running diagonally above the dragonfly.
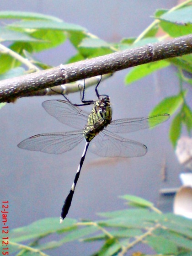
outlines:
{"label": "thick brown white-speckled branch running diagonally above the dragonfly", "polygon": [[192,53],[192,34],[2,80],[0,81],[0,102],[13,101],[17,97],[27,96],[31,91],[39,91],[188,53]]}

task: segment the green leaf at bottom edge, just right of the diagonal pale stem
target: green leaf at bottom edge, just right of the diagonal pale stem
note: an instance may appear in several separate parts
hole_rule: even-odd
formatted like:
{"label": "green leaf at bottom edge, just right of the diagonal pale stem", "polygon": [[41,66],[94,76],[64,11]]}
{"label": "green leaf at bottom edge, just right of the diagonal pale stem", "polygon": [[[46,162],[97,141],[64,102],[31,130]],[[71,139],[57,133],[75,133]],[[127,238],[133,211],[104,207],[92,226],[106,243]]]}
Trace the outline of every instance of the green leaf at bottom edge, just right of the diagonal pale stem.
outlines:
{"label": "green leaf at bottom edge, just right of the diagonal pale stem", "polygon": [[159,254],[176,255],[178,253],[176,244],[162,236],[148,236],[146,241]]}

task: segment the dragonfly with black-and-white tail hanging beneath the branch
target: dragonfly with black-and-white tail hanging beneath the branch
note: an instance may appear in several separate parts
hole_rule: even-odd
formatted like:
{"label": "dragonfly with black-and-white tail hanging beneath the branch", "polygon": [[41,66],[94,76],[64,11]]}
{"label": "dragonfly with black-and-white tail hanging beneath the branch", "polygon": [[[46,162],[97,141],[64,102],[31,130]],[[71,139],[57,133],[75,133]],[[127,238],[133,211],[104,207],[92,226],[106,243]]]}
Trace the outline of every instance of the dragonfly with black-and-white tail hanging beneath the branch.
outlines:
{"label": "dragonfly with black-and-white tail hanging beneath the branch", "polygon": [[[62,154],[69,151],[82,140],[85,140],[85,148],[80,158],[80,163],[75,175],[70,192],[62,207],[60,223],[69,212],[75,187],[80,176],[85,155],[89,147],[92,153],[103,157],[139,157],[147,153],[147,147],[139,142],[123,138],[117,133],[130,133],[145,128],[156,126],[169,119],[169,114],[158,114],[149,117],[125,118],[112,121],[112,107],[108,95],[100,95],[98,86],[95,92],[97,100],[85,101],[85,81],[81,95],[81,104],[73,104],[69,99],[48,100],[42,103],[43,108],[55,117],[59,122],[64,123],[75,131],[42,133],[21,141],[18,147],[21,149],[41,151],[48,154]],[[91,105],[91,113],[80,109],[80,106]]]}

